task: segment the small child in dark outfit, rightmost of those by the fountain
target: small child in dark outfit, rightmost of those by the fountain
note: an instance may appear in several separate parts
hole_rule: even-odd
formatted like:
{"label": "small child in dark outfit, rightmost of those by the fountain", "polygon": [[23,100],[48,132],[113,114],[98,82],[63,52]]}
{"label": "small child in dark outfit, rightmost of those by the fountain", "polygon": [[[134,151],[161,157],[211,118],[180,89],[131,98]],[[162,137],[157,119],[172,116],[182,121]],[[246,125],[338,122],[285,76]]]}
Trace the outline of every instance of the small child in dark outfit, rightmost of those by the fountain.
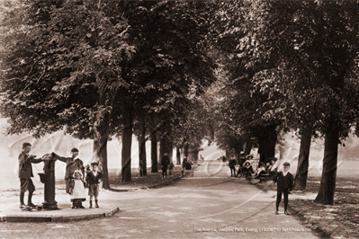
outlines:
{"label": "small child in dark outfit, rightmost of those by the fountain", "polygon": [[98,192],[99,192],[99,188],[100,188],[99,184],[103,178],[103,174],[98,172],[98,163],[97,162],[91,163],[91,166],[92,166],[93,170],[90,173],[87,173],[87,175],[86,175],[86,182],[88,185],[88,195],[90,196],[90,208],[93,208],[93,197],[94,197],[95,207],[99,208],[97,197],[98,197]]}

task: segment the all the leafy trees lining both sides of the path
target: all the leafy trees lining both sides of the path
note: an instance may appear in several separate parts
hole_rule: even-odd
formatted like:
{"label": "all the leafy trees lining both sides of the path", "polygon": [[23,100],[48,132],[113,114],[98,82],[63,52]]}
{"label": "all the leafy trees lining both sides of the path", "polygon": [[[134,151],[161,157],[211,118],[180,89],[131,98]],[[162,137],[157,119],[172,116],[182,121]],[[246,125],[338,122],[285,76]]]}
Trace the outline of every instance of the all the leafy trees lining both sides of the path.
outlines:
{"label": "all the leafy trees lining both sides of the path", "polygon": [[355,2],[8,4],[0,74],[9,134],[40,137],[65,128],[93,138],[105,178],[107,141],[121,137],[121,177],[130,181],[133,132],[146,174],[148,137],[156,172],[158,141],[160,154],[197,148],[202,138],[236,155],[257,146],[265,162],[278,139],[294,130],[301,137],[301,189],[311,137],[325,137],[316,201],[333,204],[337,146],[359,121]]}

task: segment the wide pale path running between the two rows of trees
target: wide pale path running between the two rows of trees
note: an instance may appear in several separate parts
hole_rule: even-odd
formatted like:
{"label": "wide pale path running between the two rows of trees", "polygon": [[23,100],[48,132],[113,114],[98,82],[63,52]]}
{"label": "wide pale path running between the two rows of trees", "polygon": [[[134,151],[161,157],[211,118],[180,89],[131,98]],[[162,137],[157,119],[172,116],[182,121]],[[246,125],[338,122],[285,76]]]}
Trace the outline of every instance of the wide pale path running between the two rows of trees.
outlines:
{"label": "wide pale path running between the two rows of trees", "polygon": [[105,191],[113,217],[69,223],[0,224],[1,238],[317,238],[293,216],[274,215],[274,198],[219,161],[154,190]]}

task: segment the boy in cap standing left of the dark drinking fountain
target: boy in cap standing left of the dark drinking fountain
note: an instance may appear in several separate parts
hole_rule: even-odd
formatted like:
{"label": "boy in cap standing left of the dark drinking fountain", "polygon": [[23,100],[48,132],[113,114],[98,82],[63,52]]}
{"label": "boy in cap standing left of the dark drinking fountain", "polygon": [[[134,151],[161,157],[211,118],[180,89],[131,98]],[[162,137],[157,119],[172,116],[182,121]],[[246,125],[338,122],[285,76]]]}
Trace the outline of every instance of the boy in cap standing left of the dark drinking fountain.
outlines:
{"label": "boy in cap standing left of the dark drinking fountain", "polygon": [[[29,155],[31,150],[30,143],[22,144],[22,153],[19,155],[19,178],[20,178],[20,208],[36,208],[31,201],[32,193],[35,190],[35,186],[31,180],[33,177],[31,164],[39,164],[42,160],[35,159],[35,155]],[[27,206],[23,203],[25,192],[29,191]]]}

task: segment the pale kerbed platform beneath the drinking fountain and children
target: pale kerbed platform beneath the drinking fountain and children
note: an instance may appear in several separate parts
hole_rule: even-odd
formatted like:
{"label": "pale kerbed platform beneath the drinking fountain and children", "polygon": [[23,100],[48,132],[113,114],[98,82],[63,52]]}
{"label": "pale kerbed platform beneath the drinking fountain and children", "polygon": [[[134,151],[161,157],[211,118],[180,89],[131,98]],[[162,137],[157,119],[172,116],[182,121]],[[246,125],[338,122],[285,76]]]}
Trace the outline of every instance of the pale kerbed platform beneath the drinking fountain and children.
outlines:
{"label": "pale kerbed platform beneath the drinking fountain and children", "polygon": [[[56,210],[31,210],[26,211],[19,208],[19,191],[11,190],[10,196],[0,198],[0,222],[67,222],[77,220],[88,220],[97,217],[112,217],[120,212],[120,197],[123,192],[156,189],[170,185],[181,177],[170,177],[152,187],[144,188],[112,188],[112,190],[101,190],[98,197],[100,208],[89,208],[88,198],[83,202],[85,208],[71,208],[70,196],[65,190],[56,189],[58,209]],[[24,197],[27,200],[27,193]],[[41,205],[44,201],[43,188],[37,188],[32,197],[32,202]],[[94,204],[94,201],[93,201]]]}

